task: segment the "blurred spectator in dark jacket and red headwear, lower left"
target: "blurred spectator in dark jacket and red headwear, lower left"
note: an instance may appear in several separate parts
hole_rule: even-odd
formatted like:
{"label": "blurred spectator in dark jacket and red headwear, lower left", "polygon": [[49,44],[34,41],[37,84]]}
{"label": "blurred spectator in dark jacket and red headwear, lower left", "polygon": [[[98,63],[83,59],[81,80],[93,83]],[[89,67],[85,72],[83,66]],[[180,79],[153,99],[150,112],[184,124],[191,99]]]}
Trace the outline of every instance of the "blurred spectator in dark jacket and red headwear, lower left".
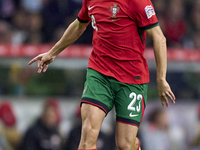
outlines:
{"label": "blurred spectator in dark jacket and red headwear, lower left", "polygon": [[59,111],[56,100],[47,100],[41,117],[27,130],[19,150],[61,150]]}

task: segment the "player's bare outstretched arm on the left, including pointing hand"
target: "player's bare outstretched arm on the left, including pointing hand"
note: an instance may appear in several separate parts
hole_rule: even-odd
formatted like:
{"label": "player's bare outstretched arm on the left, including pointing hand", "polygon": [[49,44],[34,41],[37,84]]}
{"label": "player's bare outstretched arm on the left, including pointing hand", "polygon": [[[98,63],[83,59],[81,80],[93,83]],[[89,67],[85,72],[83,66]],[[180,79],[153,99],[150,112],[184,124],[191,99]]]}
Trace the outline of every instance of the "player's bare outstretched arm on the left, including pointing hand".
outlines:
{"label": "player's bare outstretched arm on the left, including pointing hand", "polygon": [[66,47],[73,44],[85,31],[89,23],[82,23],[78,19],[72,22],[64,32],[61,39],[47,53],[40,54],[33,58],[29,65],[38,61],[38,73],[45,72],[48,65],[62,52]]}

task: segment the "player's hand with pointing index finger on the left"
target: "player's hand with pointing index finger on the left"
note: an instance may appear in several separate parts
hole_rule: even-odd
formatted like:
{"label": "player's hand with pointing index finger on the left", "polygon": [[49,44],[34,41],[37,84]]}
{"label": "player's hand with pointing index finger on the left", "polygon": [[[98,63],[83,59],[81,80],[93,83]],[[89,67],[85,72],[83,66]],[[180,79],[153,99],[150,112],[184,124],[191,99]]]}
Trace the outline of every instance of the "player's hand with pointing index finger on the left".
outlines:
{"label": "player's hand with pointing index finger on the left", "polygon": [[49,64],[54,59],[55,59],[55,57],[50,56],[49,53],[47,52],[47,53],[43,53],[43,54],[40,54],[40,55],[36,56],[28,64],[31,65],[32,63],[38,61],[38,71],[37,71],[37,73],[41,73],[42,70],[43,70],[43,72],[47,71],[47,68],[48,68]]}

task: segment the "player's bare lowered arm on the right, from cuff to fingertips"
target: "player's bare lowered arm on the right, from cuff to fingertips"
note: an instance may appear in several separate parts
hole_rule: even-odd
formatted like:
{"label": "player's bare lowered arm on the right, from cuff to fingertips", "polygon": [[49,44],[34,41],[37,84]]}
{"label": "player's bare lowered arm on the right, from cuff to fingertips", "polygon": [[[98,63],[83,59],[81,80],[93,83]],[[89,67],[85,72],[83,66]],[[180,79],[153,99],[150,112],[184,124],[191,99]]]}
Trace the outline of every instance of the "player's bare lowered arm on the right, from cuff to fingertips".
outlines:
{"label": "player's bare lowered arm on the right, from cuff to fingertips", "polygon": [[175,103],[175,96],[166,81],[167,72],[167,46],[166,38],[163,35],[160,26],[145,30],[147,35],[153,40],[154,55],[156,59],[156,73],[158,92],[162,102],[162,106],[169,107],[168,97],[172,103]]}

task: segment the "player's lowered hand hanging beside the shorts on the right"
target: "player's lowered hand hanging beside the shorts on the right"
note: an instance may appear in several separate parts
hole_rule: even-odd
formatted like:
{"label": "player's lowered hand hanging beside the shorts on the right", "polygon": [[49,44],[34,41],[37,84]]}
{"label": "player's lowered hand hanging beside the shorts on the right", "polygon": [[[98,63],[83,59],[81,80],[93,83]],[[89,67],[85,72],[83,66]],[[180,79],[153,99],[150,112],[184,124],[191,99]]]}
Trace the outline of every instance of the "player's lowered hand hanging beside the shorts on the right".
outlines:
{"label": "player's lowered hand hanging beside the shorts on the right", "polygon": [[165,107],[165,106],[169,107],[168,98],[170,98],[172,103],[175,104],[174,93],[172,92],[167,81],[166,80],[157,81],[157,84],[158,84],[158,93],[159,93],[159,96],[160,96],[162,106],[163,107]]}

